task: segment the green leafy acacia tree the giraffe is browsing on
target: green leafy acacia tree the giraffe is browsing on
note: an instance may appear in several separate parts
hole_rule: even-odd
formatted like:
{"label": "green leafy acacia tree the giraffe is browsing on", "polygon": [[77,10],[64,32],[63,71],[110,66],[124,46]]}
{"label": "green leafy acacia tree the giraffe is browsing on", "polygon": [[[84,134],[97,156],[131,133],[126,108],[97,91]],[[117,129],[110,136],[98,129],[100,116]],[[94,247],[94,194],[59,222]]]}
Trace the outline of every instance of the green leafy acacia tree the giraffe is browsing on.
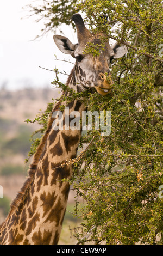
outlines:
{"label": "green leafy acacia tree the giraffe is browsing on", "polygon": [[[54,17],[55,2],[45,5]],[[111,133],[102,137],[101,131],[89,131],[80,143],[86,149],[73,160],[76,215],[83,218],[83,231],[74,235],[78,244],[162,245],[162,1],[69,2],[84,11],[92,31],[103,31],[128,47],[110,66],[114,95],[85,93],[90,94],[89,102],[85,100],[90,111],[111,111]],[[108,23],[102,23],[101,14],[108,15]],[[86,52],[98,54],[93,45]],[[63,86],[58,78],[54,83]]]}

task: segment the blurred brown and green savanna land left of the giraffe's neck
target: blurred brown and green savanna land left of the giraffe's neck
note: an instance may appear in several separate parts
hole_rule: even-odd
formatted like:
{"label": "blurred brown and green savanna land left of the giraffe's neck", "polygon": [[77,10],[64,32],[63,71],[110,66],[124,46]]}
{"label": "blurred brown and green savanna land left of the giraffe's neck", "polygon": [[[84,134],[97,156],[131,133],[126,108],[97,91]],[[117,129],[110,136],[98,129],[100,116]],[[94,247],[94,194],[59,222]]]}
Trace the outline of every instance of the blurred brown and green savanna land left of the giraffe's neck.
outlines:
{"label": "blurred brown and green savanna land left of the giraffe's neck", "polygon": [[[22,89],[15,92],[0,90],[0,185],[4,199],[0,200],[1,212],[4,203],[10,202],[26,179],[28,164],[24,160],[30,149],[30,135],[38,129],[37,123],[27,124],[27,118],[34,119],[46,109],[52,98],[60,96],[58,89]],[[9,205],[7,203],[7,205]]]}

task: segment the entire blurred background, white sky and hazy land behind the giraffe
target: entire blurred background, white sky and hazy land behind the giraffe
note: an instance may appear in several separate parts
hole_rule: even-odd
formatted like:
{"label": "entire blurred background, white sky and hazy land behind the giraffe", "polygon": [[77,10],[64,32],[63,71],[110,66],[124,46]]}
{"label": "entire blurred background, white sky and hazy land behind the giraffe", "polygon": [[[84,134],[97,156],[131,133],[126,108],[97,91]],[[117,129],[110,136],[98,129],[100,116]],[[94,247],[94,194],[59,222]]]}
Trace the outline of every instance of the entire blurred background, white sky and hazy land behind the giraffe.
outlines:
{"label": "entire blurred background, white sky and hazy land behind the giraffe", "polygon": [[[28,173],[29,163],[24,164],[24,161],[30,149],[30,135],[38,125],[24,123],[24,120],[34,119],[36,114],[46,109],[52,98],[59,97],[59,90],[51,84],[55,74],[46,69],[54,70],[56,67],[68,74],[73,68],[70,63],[55,60],[56,55],[58,59],[73,62],[72,57],[65,56],[55,46],[51,32],[35,39],[41,34],[43,23],[35,22],[34,16],[27,17],[28,11],[22,9],[32,2],[0,2],[0,185],[3,187],[0,223],[5,220],[10,203]],[[62,35],[77,42],[70,27],[66,26],[66,30],[63,27],[62,31]],[[67,80],[66,75],[59,74],[59,78],[61,82]],[[61,234],[60,245],[76,243],[71,229],[78,227],[80,222],[70,213],[75,206],[74,200],[71,191],[64,221],[65,233]]]}

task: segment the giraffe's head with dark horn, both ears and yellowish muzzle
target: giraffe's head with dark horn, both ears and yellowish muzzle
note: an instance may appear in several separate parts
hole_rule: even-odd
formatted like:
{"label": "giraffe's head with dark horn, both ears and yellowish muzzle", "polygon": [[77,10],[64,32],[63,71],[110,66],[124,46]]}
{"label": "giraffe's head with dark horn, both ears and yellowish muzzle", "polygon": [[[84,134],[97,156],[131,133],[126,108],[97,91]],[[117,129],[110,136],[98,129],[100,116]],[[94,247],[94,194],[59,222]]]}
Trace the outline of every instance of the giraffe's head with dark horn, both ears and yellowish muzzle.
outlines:
{"label": "giraffe's head with dark horn, both ears and yellowish muzzle", "polygon": [[[106,17],[103,17],[106,21]],[[127,47],[118,44],[110,46],[108,40],[102,47],[103,33],[92,34],[85,27],[80,14],[74,14],[72,20],[76,24],[78,43],[72,44],[68,38],[61,35],[54,35],[54,42],[61,52],[70,54],[76,59],[75,75],[78,91],[96,88],[99,94],[106,95],[111,92],[113,84],[109,70],[111,60],[121,58],[127,52]],[[85,50],[89,43],[98,49],[98,55],[93,56],[92,53],[86,53]]]}

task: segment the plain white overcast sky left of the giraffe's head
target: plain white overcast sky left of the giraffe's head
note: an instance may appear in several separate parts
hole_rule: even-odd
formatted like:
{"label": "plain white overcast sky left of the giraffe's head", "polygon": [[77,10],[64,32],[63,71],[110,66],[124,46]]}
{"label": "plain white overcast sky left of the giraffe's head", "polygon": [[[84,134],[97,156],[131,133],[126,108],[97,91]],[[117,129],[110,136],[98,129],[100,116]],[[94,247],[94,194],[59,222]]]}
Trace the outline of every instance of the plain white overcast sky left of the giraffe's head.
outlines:
{"label": "plain white overcast sky left of the giraffe's head", "polygon": [[[43,21],[36,22],[33,15],[27,18],[29,11],[22,7],[27,4],[40,4],[43,0],[5,0],[0,2],[0,88],[16,90],[24,87],[53,88],[51,82],[55,78],[52,71],[55,67],[67,74],[73,68],[72,64],[55,60],[70,60],[71,56],[61,53],[53,41],[53,33],[41,35]],[[70,26],[62,27],[62,35],[67,36],[73,43],[77,36]],[[60,34],[58,31],[57,34]],[[35,39],[35,40],[34,40]],[[41,69],[39,66],[45,68]],[[59,75],[61,82],[66,82],[67,76]]]}

